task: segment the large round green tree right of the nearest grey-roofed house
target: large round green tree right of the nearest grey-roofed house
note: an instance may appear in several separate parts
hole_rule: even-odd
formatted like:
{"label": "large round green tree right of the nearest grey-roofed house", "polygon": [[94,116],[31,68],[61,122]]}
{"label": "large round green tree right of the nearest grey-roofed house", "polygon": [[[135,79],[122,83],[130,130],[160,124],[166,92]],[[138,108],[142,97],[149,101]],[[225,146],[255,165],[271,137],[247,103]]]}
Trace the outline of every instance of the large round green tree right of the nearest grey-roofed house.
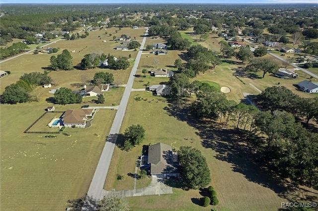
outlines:
{"label": "large round green tree right of the nearest grey-roofed house", "polygon": [[178,158],[180,173],[187,188],[204,188],[211,182],[207,160],[198,149],[181,146]]}

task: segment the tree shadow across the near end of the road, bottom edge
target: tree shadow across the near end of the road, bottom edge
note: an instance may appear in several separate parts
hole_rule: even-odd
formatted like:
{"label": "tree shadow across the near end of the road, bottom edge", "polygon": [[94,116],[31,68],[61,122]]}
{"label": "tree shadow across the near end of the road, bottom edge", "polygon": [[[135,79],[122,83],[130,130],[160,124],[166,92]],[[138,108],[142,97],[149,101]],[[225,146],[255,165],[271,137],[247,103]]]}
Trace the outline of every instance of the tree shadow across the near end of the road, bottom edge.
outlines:
{"label": "tree shadow across the near end of the road, bottom edge", "polygon": [[90,196],[68,200],[68,208],[72,211],[96,211],[98,201]]}

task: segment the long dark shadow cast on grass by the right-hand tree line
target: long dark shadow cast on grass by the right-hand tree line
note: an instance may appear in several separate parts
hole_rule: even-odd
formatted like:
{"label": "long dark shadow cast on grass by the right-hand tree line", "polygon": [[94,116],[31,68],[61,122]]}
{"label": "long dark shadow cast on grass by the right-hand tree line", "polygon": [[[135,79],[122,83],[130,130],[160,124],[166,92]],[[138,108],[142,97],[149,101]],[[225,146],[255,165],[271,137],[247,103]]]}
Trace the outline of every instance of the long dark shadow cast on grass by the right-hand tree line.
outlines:
{"label": "long dark shadow cast on grass by the right-hand tree line", "polygon": [[[241,173],[248,181],[273,190],[279,197],[290,201],[318,200],[318,191],[314,193],[281,179],[271,165],[257,154],[263,140],[257,136],[249,136],[243,130],[228,129],[221,124],[208,120],[200,120],[190,115],[189,109],[169,104],[164,108],[167,114],[195,128],[201,137],[201,144],[206,149],[216,152],[215,158],[232,164],[234,172]],[[299,194],[302,192],[301,194]]]}

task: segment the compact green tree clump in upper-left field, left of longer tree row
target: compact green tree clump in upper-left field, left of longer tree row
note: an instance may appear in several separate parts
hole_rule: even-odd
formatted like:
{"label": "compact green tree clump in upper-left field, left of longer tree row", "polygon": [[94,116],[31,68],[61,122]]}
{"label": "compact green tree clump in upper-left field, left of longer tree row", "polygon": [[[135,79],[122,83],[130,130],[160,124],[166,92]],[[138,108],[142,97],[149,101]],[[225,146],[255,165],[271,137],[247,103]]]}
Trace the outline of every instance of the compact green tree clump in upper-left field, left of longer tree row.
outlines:
{"label": "compact green tree clump in upper-left field, left of longer tree row", "polygon": [[72,55],[65,49],[58,56],[52,55],[50,58],[52,70],[73,70]]}

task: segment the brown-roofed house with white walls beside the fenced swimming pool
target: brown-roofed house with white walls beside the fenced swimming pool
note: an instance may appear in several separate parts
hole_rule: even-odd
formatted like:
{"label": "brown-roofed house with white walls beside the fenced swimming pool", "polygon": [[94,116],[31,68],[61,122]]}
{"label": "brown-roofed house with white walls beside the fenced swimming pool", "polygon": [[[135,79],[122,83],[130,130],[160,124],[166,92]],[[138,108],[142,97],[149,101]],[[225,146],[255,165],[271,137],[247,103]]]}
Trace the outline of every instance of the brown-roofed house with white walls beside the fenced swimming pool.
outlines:
{"label": "brown-roofed house with white walls beside the fenced swimming pool", "polygon": [[65,127],[84,128],[87,118],[92,115],[93,109],[70,109],[63,113],[62,122]]}

